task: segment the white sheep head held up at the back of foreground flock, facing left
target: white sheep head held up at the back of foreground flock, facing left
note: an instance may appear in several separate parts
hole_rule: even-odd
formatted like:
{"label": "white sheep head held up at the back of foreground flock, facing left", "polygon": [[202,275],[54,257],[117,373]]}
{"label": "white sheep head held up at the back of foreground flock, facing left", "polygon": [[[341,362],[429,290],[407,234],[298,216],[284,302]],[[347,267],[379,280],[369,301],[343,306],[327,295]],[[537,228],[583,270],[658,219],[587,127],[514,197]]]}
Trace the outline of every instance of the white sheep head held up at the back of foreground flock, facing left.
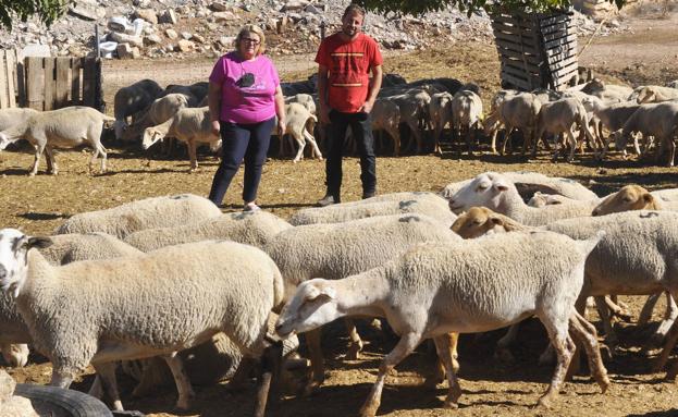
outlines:
{"label": "white sheep head held up at the back of foreground flock, facing left", "polygon": [[493,172],[480,174],[452,196],[449,209],[457,214],[471,207],[496,209],[507,189],[508,185],[498,174]]}

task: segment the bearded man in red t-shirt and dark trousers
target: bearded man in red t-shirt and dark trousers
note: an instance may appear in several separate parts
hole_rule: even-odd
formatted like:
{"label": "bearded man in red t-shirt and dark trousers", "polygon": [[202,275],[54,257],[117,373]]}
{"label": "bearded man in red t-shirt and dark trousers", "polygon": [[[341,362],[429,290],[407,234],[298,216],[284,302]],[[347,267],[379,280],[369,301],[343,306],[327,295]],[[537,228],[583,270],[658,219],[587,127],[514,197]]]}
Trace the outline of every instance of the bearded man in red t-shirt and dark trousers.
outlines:
{"label": "bearded man in red t-shirt and dark trousers", "polygon": [[347,126],[350,126],[360,154],[362,198],[372,197],[377,191],[370,111],[381,87],[382,58],[379,45],[361,32],[363,20],[365,9],[348,5],[342,16],[342,30],[324,38],[316,56],[320,123],[325,128],[328,142],[328,191],[318,201],[320,206],[341,201],[342,151]]}

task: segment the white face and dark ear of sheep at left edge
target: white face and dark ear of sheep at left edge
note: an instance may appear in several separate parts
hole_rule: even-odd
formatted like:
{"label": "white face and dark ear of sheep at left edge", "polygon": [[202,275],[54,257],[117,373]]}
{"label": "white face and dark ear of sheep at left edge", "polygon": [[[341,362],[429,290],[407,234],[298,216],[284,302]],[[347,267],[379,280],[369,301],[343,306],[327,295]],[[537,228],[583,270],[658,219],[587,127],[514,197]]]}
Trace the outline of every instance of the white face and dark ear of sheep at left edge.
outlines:
{"label": "white face and dark ear of sheep at left edge", "polygon": [[16,229],[0,230],[0,287],[19,296],[28,271],[28,250],[51,244],[47,237],[29,237]]}

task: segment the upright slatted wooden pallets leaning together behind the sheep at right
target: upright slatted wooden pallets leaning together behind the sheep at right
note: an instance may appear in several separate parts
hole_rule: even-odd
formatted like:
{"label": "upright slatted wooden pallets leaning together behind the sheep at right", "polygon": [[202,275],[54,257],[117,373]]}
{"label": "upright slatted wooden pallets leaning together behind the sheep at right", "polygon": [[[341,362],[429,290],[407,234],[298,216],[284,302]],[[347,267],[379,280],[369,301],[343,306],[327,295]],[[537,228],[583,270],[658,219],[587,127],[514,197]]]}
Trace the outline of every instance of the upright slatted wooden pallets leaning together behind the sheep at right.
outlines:
{"label": "upright slatted wooden pallets leaning together behind the sheep at right", "polygon": [[497,14],[492,16],[492,28],[504,85],[558,90],[577,75],[571,14]]}

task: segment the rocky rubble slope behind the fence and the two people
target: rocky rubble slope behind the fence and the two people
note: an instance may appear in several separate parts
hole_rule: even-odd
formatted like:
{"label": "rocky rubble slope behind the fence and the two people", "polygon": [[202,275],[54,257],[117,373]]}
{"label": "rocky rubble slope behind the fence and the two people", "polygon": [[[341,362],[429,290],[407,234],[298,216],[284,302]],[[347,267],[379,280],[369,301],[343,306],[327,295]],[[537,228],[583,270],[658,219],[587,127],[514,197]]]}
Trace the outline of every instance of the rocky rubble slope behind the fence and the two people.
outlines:
{"label": "rocky rubble slope behind the fence and the two people", "polygon": [[[137,59],[202,54],[217,57],[233,47],[246,23],[262,26],[270,54],[312,52],[324,25],[338,28],[348,0],[77,0],[69,12],[46,28],[37,21],[16,23],[0,30],[0,47],[48,46],[52,56],[82,57],[96,50],[99,27],[101,54]],[[596,23],[576,13],[578,32],[591,34]],[[608,22],[603,35],[624,29]],[[365,30],[385,49],[418,49],[454,40],[491,40],[485,13],[468,17],[447,8],[423,16],[369,14]]]}

